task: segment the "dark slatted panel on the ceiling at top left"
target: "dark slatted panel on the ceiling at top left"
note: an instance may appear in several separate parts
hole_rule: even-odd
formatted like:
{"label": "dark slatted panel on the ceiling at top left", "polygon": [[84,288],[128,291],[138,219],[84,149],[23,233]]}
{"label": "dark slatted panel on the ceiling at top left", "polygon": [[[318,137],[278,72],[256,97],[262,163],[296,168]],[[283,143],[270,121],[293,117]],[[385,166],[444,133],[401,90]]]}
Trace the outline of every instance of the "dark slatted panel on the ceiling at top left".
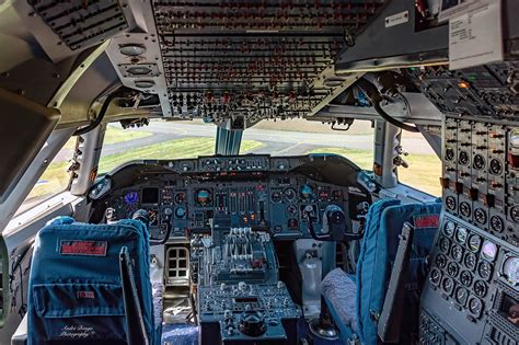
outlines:
{"label": "dark slatted panel on the ceiling at top left", "polygon": [[118,1],[27,2],[72,50],[99,44],[128,27]]}

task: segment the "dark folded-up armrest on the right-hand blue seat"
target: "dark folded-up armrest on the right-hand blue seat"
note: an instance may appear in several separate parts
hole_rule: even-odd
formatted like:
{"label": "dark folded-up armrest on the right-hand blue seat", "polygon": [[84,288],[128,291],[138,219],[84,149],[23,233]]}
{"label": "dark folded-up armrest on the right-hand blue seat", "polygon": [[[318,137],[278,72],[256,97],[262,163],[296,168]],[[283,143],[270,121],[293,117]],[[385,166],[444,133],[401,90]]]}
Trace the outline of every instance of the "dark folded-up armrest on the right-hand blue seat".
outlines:
{"label": "dark folded-up armrest on the right-hand blue seat", "polygon": [[377,325],[379,337],[384,343],[397,343],[400,338],[400,327],[404,313],[405,283],[410,269],[414,230],[412,225],[405,222],[400,234],[399,249],[391,271],[388,292]]}

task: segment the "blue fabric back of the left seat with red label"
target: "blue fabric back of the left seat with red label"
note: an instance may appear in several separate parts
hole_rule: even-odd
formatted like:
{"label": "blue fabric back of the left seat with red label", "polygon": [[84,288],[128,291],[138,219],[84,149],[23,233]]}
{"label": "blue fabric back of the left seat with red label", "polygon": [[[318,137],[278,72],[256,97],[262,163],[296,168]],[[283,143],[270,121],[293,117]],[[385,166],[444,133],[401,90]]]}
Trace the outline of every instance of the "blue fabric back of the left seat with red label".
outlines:
{"label": "blue fabric back of the left seat with red label", "polygon": [[39,230],[35,242],[27,303],[30,345],[127,344],[123,248],[131,261],[145,332],[150,344],[159,344],[147,227],[137,220],[84,225],[59,217]]}

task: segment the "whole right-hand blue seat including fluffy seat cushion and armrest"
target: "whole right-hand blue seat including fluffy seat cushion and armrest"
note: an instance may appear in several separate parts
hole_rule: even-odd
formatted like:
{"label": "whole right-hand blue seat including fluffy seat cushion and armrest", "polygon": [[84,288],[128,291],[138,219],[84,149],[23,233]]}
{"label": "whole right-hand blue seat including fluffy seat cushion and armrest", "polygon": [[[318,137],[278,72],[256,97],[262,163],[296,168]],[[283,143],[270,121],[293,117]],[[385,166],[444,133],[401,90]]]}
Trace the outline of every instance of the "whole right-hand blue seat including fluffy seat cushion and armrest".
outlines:
{"label": "whole right-hand blue seat including fluffy seat cushion and armrest", "polygon": [[[322,294],[345,343],[413,342],[408,337],[418,331],[420,288],[440,210],[440,203],[401,205],[396,199],[382,199],[370,207],[356,275],[336,268],[322,283]],[[414,228],[411,235],[410,228]],[[403,229],[408,231],[406,235],[402,235]],[[403,248],[407,250],[406,263],[402,261]],[[395,284],[400,284],[399,290]],[[392,324],[399,308],[400,324]]]}

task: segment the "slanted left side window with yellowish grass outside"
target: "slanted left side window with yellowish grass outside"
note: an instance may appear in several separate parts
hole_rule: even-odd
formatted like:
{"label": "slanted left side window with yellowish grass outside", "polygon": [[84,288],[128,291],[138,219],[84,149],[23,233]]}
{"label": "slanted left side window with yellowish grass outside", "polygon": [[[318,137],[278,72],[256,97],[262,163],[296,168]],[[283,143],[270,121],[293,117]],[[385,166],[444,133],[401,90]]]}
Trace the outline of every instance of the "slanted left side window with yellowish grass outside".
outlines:
{"label": "slanted left side window with yellowish grass outside", "polygon": [[47,169],[34,185],[16,214],[21,214],[41,202],[68,188],[70,174],[67,172],[72,159],[77,137],[71,137],[48,164]]}

